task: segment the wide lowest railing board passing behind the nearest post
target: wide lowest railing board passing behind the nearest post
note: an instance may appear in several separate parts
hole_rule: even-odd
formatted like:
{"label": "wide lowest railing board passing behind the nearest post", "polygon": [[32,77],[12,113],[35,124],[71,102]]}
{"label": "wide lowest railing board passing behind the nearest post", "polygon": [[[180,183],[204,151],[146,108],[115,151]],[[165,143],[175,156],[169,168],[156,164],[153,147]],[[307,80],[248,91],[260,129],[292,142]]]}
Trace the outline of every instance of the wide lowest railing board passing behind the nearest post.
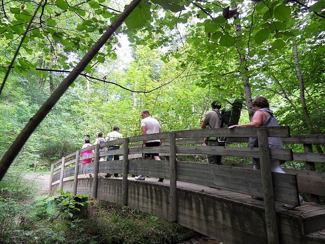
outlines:
{"label": "wide lowest railing board passing behind the nearest post", "polygon": [[[299,205],[295,175],[272,173],[275,200]],[[177,180],[263,197],[261,172],[207,163],[178,162]]]}

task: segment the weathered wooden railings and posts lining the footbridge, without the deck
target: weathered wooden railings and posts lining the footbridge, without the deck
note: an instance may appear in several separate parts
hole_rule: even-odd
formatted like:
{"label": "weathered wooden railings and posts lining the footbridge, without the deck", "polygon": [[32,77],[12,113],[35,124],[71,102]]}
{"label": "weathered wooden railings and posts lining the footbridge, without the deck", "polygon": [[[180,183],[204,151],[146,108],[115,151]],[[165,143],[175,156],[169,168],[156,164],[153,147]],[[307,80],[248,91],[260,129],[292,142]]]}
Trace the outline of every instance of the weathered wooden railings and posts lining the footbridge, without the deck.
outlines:
{"label": "weathered wooden railings and posts lining the footbridge, without the deck", "polygon": [[[259,148],[240,146],[202,146],[204,137],[226,137],[229,142],[247,142],[249,137],[258,137]],[[305,152],[292,152],[292,149],[268,148],[268,137],[281,137],[285,143],[304,143]],[[163,139],[162,147],[131,147],[130,143],[143,140]],[[325,144],[324,136],[292,136],[287,126],[249,127],[249,128],[220,128],[207,130],[175,131],[169,133],[150,134],[104,142],[77,150],[56,163],[52,164],[50,192],[52,186],[74,177],[73,192],[77,192],[78,176],[81,170],[79,161],[95,158],[90,163],[87,173],[93,174],[92,197],[97,196],[98,173],[122,173],[121,204],[128,205],[128,175],[146,175],[148,177],[165,178],[170,180],[170,220],[177,220],[177,184],[176,181],[202,184],[238,193],[244,193],[264,198],[265,218],[268,239],[277,243],[277,223],[274,201],[298,206],[299,190],[314,194],[325,195],[325,173],[310,170],[287,170],[288,174],[272,173],[270,160],[306,161],[312,168],[314,162],[325,163],[325,155],[312,153],[310,145]],[[112,151],[99,151],[99,146],[122,144],[123,148]],[[80,153],[95,149],[95,154],[79,157]],[[142,153],[159,153],[168,157],[163,161],[142,160]],[[99,162],[99,157],[108,155],[123,155],[119,161]],[[208,163],[177,162],[177,155],[222,155],[244,158],[260,158],[261,170],[251,170],[243,167],[211,165]],[[231,165],[233,166],[233,165]],[[237,165],[236,165],[237,166]],[[297,183],[298,179],[298,183]],[[273,242],[271,241],[271,242]]]}

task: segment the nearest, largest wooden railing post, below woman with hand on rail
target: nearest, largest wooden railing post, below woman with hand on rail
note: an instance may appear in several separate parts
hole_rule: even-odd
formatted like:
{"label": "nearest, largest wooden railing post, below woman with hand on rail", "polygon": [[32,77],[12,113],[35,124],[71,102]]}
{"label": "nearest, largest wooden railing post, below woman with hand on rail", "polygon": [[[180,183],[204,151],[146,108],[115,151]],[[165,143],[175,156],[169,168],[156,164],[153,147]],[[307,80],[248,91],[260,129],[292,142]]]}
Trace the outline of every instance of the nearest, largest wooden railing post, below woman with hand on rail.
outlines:
{"label": "nearest, largest wooden railing post, below woman with hand on rail", "polygon": [[279,234],[276,220],[270,153],[268,149],[268,129],[257,130],[260,150],[262,186],[264,191],[265,221],[267,224],[268,244],[278,244]]}

